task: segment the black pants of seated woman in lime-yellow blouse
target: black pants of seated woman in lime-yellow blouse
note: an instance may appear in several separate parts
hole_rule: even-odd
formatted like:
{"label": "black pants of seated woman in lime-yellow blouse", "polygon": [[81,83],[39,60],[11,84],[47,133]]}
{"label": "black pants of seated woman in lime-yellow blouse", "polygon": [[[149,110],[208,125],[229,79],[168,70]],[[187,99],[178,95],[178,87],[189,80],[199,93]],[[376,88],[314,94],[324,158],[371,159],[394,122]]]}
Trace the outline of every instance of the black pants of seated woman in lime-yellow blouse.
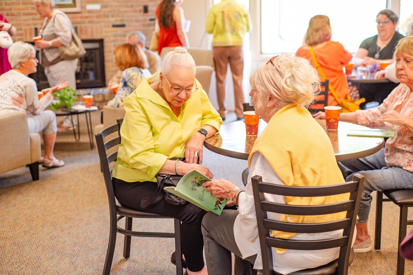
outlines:
{"label": "black pants of seated woman in lime-yellow blouse", "polygon": [[[185,255],[188,269],[200,271],[204,268],[204,240],[201,232],[202,218],[207,211],[187,203],[185,205],[171,205],[162,199],[159,203],[141,208],[142,198],[151,196],[157,189],[156,182],[124,182],[112,178],[116,198],[128,207],[179,219],[181,224],[181,246]],[[161,191],[164,192],[164,191]]]}

